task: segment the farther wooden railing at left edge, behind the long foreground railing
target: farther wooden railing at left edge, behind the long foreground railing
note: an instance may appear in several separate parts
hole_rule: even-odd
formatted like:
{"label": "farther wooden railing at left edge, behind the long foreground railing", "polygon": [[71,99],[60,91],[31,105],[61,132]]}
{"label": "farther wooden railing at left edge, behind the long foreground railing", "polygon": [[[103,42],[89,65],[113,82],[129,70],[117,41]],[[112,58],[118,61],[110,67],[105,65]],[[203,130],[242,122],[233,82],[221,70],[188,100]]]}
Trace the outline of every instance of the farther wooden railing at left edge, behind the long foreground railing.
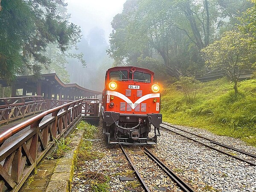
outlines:
{"label": "farther wooden railing at left edge, behind the long foreground railing", "polygon": [[0,125],[46,109],[42,96],[0,98]]}

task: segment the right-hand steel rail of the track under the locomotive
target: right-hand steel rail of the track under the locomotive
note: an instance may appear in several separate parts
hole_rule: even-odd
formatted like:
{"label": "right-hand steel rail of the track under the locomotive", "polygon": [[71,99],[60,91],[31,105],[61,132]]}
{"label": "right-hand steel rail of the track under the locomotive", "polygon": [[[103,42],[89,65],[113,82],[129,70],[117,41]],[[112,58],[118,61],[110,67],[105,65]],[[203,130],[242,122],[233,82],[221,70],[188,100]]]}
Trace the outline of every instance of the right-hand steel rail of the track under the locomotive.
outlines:
{"label": "right-hand steel rail of the track under the locomotive", "polygon": [[177,183],[177,186],[180,187],[181,190],[184,192],[195,192],[195,190],[188,184],[186,183],[183,179],[181,179],[175,172],[173,172],[169,167],[167,167],[160,159],[158,159],[154,154],[149,151],[148,148],[144,147],[145,151],[144,153],[148,155],[148,157],[151,158],[157,165],[163,169],[163,171],[171,177],[171,179]]}

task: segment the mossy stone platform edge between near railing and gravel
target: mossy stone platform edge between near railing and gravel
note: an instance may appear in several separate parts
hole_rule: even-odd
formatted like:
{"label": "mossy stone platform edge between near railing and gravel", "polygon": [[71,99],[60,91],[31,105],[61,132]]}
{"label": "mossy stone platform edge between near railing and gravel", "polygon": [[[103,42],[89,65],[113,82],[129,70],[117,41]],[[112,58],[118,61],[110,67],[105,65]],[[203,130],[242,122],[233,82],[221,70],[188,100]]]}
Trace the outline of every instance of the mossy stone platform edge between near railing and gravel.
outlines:
{"label": "mossy stone platform edge between near railing and gravel", "polygon": [[71,192],[71,182],[74,173],[74,160],[80,146],[84,130],[78,130],[69,144],[71,150],[61,157],[53,171],[46,192]]}

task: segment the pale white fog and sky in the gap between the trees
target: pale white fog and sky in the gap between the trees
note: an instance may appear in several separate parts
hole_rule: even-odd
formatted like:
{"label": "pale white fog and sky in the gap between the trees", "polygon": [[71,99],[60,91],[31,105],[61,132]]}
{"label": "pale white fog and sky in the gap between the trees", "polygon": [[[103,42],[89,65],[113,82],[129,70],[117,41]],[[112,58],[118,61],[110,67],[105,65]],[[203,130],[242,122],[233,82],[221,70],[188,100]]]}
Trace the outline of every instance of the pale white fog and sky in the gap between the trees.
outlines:
{"label": "pale white fog and sky in the gap between the trees", "polygon": [[82,52],[86,67],[82,67],[76,59],[69,59],[67,71],[70,82],[80,86],[102,91],[104,87],[105,71],[112,66],[113,61],[108,58],[109,35],[112,31],[113,17],[122,12],[126,0],[67,0],[70,21],[81,26],[82,38],[78,50]]}

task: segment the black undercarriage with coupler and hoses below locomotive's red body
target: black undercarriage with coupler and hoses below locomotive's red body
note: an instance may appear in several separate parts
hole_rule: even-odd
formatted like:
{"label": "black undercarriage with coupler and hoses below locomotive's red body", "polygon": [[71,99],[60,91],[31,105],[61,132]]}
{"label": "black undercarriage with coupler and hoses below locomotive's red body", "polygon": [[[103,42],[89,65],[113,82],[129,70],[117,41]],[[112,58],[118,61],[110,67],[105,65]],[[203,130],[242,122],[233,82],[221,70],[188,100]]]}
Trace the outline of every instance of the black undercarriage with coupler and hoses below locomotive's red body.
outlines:
{"label": "black undercarriage with coupler and hoses below locomotive's red body", "polygon": [[103,133],[109,144],[146,145],[156,144],[160,136],[162,114],[146,115],[104,113]]}

